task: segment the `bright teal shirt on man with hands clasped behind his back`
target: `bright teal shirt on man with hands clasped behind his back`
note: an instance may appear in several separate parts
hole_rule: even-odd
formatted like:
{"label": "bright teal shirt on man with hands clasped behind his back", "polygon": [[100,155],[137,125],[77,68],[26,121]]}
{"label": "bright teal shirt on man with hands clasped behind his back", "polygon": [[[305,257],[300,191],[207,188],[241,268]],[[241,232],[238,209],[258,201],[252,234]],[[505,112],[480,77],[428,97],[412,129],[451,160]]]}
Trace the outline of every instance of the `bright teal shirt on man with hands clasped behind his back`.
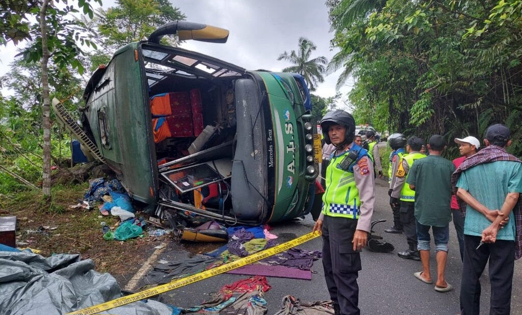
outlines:
{"label": "bright teal shirt on man with hands clasped behind his back", "polygon": [[[490,210],[500,210],[509,192],[522,192],[522,163],[496,161],[479,164],[460,175],[457,187],[465,189],[471,196]],[[484,215],[468,204],[464,234],[481,236],[491,225]],[[509,221],[499,230],[497,239],[515,240],[515,216],[509,213]]]}

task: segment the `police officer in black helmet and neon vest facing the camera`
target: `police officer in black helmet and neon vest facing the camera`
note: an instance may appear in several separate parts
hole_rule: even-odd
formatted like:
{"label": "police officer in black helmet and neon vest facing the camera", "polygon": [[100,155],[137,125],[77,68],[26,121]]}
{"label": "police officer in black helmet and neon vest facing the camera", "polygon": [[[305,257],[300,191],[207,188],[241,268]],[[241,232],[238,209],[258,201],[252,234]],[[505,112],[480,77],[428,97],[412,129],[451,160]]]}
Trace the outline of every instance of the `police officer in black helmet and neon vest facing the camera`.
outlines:
{"label": "police officer in black helmet and neon vest facing the camera", "polygon": [[366,246],[375,201],[373,165],[366,150],[353,143],[355,120],[337,110],[321,120],[326,143],[333,143],[326,169],[323,210],[314,232],[323,235],[323,268],[336,315],[359,315],[360,251]]}

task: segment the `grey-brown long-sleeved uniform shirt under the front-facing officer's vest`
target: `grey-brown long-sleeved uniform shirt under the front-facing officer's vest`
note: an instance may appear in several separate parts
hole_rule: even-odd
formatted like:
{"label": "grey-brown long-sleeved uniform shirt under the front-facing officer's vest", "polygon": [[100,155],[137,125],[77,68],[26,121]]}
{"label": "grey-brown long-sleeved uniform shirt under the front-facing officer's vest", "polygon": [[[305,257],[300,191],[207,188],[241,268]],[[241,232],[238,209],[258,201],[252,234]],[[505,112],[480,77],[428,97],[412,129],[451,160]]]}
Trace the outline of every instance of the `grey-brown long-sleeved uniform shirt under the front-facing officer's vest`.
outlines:
{"label": "grey-brown long-sleeved uniform shirt under the front-facing officer's vest", "polygon": [[[350,143],[348,148],[352,147]],[[337,153],[337,151],[335,152]],[[361,200],[359,220],[357,229],[370,233],[372,224],[373,207],[375,204],[375,178],[373,176],[373,163],[369,156],[363,156],[353,165],[353,177],[355,186],[359,190],[359,200]],[[321,212],[318,220],[324,220],[324,213]],[[350,219],[346,219],[350,220]]]}

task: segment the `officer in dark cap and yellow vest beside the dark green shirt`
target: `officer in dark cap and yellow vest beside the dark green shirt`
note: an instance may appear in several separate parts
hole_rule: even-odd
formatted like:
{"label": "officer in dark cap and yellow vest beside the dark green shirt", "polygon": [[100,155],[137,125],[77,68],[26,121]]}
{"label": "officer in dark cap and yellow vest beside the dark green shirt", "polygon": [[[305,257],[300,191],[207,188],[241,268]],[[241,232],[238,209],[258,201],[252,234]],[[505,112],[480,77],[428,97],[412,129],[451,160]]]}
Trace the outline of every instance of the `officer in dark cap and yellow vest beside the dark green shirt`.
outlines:
{"label": "officer in dark cap and yellow vest beside the dark green shirt", "polygon": [[[390,196],[390,204],[397,207],[400,203],[400,222],[404,227],[404,234],[408,243],[408,249],[397,253],[400,258],[421,260],[417,250],[417,225],[415,222],[415,191],[406,184],[408,174],[413,162],[423,159],[426,155],[420,153],[423,141],[419,137],[411,136],[406,144],[407,155],[402,156],[399,161],[397,172],[395,172],[395,183]],[[391,187],[391,184],[390,184]],[[400,199],[400,201],[399,201]]]}

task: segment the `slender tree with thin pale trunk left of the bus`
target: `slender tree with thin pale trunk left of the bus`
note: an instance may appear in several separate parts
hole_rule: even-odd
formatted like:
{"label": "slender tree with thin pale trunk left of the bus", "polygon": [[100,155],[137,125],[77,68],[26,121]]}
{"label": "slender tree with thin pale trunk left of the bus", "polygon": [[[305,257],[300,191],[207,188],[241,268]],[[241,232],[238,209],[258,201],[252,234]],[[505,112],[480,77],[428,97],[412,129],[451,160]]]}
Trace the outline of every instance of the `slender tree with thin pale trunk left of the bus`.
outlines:
{"label": "slender tree with thin pale trunk left of the bus", "polygon": [[[94,0],[101,4],[101,0]],[[78,60],[82,53],[76,41],[81,44],[91,45],[77,29],[78,22],[72,19],[72,14],[78,10],[73,5],[67,5],[67,0],[62,0],[65,7],[59,8],[50,5],[50,0],[40,2],[28,2],[27,5],[20,7],[22,3],[15,1],[14,5],[10,2],[2,3],[2,8],[7,10],[3,13],[13,22],[3,23],[0,28],[0,38],[2,44],[12,40],[18,44],[22,40],[31,40],[31,44],[22,53],[26,62],[40,62],[42,69],[42,126],[43,126],[43,172],[42,172],[42,193],[45,197],[51,196],[51,121],[50,121],[50,101],[49,101],[49,71],[48,64],[52,58],[53,63],[58,67],[65,68],[69,64],[78,71],[83,72],[84,68]],[[90,0],[78,0],[78,5],[82,7],[84,14],[93,16]],[[61,4],[60,0],[56,0]],[[34,19],[36,22],[27,22]]]}

